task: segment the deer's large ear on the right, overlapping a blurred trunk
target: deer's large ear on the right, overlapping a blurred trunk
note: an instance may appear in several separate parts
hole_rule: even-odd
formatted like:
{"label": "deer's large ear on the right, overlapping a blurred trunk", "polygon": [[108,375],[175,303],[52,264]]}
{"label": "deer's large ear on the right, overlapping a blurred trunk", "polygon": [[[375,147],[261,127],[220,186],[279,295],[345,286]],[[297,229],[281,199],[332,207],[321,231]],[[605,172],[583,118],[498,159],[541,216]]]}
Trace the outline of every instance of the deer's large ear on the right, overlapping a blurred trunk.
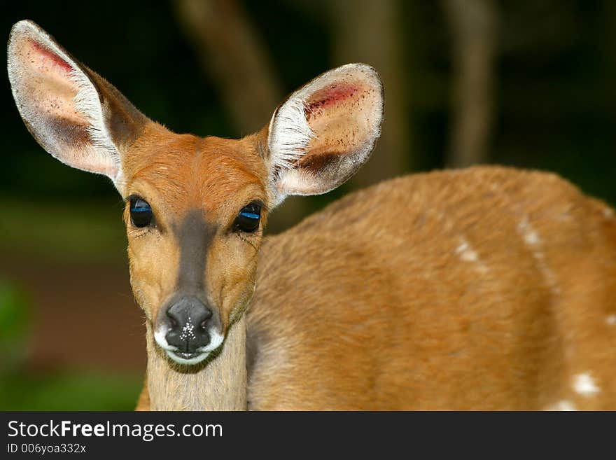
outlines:
{"label": "deer's large ear on the right, overlapping a blurred trunk", "polygon": [[370,157],[381,132],[383,86],[366,64],[346,64],[293,92],[274,112],[269,181],[286,195],[318,195],[344,183]]}

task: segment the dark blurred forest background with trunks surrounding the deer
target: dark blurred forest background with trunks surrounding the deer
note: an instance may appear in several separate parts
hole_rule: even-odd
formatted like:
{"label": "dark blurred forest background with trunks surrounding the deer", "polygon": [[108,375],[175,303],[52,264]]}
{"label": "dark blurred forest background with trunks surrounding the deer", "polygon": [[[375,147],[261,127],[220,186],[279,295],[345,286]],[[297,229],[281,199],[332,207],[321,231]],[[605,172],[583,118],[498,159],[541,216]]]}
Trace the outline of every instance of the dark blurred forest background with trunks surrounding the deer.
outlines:
{"label": "dark blurred forest background with trunks surrounding the deer", "polygon": [[[400,174],[499,163],[549,169],[616,203],[612,0],[2,1],[176,132],[241,137],[288,92],[347,62],[386,90],[358,176],[287,200],[269,232]],[[146,351],[123,204],[65,167],[0,91],[0,410],[130,410]]]}

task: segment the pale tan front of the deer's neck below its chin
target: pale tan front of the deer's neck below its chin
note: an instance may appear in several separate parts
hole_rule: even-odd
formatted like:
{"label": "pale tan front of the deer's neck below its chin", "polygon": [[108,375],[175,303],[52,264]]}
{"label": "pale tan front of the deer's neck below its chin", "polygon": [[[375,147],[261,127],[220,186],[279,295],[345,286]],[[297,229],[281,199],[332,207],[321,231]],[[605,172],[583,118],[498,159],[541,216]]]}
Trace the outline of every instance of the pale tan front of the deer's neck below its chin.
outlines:
{"label": "pale tan front of the deer's neck below its chin", "polygon": [[246,410],[246,323],[229,330],[221,354],[193,371],[170,363],[148,325],[151,410]]}

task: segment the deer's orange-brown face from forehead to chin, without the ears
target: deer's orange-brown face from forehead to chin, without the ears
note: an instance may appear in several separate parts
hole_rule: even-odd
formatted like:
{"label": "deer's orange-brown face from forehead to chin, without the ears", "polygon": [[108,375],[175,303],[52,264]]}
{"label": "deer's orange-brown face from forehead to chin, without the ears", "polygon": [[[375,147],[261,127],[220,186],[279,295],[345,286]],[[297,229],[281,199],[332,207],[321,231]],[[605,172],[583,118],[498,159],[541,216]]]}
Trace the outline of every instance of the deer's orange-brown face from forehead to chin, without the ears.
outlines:
{"label": "deer's orange-brown face from forehead to chin, without the ears", "polygon": [[123,165],[131,284],[158,345],[197,363],[253,294],[267,172],[248,139],[152,131]]}

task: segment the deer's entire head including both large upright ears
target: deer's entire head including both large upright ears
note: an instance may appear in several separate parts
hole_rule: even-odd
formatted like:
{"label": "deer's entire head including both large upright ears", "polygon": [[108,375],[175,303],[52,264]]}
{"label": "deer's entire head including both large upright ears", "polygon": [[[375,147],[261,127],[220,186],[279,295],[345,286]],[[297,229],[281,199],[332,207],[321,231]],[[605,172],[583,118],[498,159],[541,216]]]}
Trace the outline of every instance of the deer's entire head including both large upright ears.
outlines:
{"label": "deer's entire head including both large upright ears", "polygon": [[347,64],[293,92],[258,134],[174,134],[30,21],[11,30],[8,76],[38,143],[67,165],[105,174],[124,198],[131,284],[150,344],[183,364],[223,346],[246,309],[267,211],[286,195],[349,179],[369,158],[383,115],[377,73]]}

